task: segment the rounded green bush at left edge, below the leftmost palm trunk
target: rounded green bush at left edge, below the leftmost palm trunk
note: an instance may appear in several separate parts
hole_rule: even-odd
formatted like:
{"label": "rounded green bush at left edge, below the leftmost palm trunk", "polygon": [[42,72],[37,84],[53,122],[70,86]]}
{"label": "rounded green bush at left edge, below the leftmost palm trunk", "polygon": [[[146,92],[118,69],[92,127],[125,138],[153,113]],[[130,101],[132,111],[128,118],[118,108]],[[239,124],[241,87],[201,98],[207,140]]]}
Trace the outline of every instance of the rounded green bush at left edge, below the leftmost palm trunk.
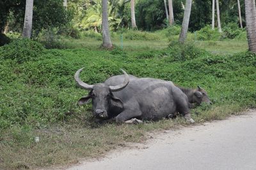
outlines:
{"label": "rounded green bush at left edge, below the leftmost palm trunk", "polygon": [[38,60],[45,52],[44,46],[30,39],[16,39],[12,43],[0,47],[3,52],[0,53],[2,59],[12,59],[18,63],[29,60]]}

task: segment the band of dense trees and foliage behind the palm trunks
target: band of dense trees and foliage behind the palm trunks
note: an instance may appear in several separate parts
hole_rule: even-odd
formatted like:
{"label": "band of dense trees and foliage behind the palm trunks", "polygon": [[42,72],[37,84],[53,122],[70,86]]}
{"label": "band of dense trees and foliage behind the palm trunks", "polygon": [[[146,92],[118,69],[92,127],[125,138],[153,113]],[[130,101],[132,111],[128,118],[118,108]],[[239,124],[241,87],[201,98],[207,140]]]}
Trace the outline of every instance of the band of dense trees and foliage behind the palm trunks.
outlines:
{"label": "band of dense trees and foliage behind the palm trunks", "polygon": [[[136,1],[136,22],[138,29],[156,31],[168,26],[164,1]],[[0,29],[9,25],[9,31],[21,32],[24,20],[25,0],[0,2]],[[211,24],[211,0],[195,0],[192,4],[189,30],[197,31]],[[175,24],[181,25],[185,1],[173,0]],[[131,27],[131,9],[129,0],[109,0],[109,27],[112,31]],[[34,36],[42,29],[52,27],[64,28],[58,33],[79,37],[79,31],[93,30],[101,32],[101,0],[71,0],[65,10],[63,1],[34,1],[33,8]],[[241,2],[241,13],[244,16],[244,5]],[[239,24],[237,1],[220,1],[221,25]],[[60,17],[61,16],[61,17]],[[244,22],[244,17],[243,17]],[[65,26],[65,27],[63,27]]]}

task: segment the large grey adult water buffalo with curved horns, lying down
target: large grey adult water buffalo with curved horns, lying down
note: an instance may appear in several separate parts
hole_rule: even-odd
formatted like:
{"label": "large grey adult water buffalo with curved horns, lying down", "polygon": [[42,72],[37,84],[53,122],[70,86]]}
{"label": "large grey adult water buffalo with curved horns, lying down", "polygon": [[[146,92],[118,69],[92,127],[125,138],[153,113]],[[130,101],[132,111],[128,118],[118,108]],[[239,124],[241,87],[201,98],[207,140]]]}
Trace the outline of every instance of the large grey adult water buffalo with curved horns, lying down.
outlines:
{"label": "large grey adult water buffalo with curved horns, lying down", "polygon": [[82,69],[76,72],[75,80],[81,88],[90,92],[88,96],[79,99],[78,103],[88,103],[92,99],[93,111],[99,120],[159,120],[179,112],[186,120],[194,122],[188,108],[188,97],[171,81],[154,78],[134,78],[129,81],[129,75],[122,70],[122,83],[108,80],[88,85],[79,78]]}

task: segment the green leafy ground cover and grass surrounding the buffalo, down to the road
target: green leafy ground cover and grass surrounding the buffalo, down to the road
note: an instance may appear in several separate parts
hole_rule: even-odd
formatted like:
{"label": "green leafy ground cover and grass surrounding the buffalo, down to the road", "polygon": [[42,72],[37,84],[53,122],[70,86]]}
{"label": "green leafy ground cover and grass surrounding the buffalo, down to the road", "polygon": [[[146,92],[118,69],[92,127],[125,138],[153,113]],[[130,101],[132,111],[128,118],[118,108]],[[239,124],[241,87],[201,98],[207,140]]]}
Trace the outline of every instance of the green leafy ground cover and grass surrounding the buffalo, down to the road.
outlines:
{"label": "green leafy ground cover and grass surrounding the buffalo, down to the road", "polygon": [[[91,105],[76,104],[87,94],[74,82],[81,67],[86,68],[82,80],[90,84],[120,74],[123,68],[135,76],[171,80],[182,87],[200,85],[214,104],[191,110],[196,123],[256,107],[256,55],[243,52],[245,41],[181,46],[166,39],[127,40],[123,50],[116,45],[106,51],[98,48],[100,41],[91,40],[67,41],[73,48],[62,50],[47,50],[26,39],[0,47],[0,169],[70,164],[127,142],[140,142],[147,138],[145,132],[186,125],[183,118],[139,125],[94,124]],[[230,54],[235,48],[239,53]],[[34,142],[36,136],[39,143]]]}

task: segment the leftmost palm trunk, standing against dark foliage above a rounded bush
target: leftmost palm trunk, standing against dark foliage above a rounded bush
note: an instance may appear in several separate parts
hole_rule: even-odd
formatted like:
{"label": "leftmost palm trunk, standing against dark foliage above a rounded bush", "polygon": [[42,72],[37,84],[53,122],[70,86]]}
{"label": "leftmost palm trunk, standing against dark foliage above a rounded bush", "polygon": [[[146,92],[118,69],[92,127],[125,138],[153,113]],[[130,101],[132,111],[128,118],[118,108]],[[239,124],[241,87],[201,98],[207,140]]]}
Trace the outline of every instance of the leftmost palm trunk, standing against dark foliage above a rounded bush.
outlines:
{"label": "leftmost palm trunk, standing against dark foliage above a rounded bush", "polygon": [[33,19],[33,0],[26,0],[26,10],[25,10],[23,32],[22,32],[22,37],[24,38],[31,38],[32,19]]}

